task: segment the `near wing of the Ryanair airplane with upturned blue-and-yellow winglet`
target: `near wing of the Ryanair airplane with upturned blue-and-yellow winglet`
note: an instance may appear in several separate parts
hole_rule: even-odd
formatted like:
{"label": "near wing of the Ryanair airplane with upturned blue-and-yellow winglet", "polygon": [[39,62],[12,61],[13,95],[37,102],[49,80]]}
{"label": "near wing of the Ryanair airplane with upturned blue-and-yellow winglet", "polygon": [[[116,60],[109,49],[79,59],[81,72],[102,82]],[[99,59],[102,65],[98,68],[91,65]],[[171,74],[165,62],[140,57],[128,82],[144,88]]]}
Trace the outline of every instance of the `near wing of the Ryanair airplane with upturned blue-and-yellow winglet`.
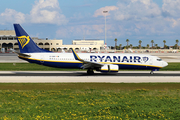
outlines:
{"label": "near wing of the Ryanair airplane with upturned blue-and-yellow winglet", "polygon": [[104,66],[104,64],[101,64],[101,63],[96,63],[96,62],[91,62],[91,61],[87,61],[87,60],[81,59],[81,58],[77,55],[77,53],[74,51],[74,49],[72,49],[72,52],[73,52],[74,58],[75,58],[76,60],[83,62],[83,65],[81,66],[81,68],[83,68],[83,69],[88,69],[88,68],[100,68],[100,67]]}

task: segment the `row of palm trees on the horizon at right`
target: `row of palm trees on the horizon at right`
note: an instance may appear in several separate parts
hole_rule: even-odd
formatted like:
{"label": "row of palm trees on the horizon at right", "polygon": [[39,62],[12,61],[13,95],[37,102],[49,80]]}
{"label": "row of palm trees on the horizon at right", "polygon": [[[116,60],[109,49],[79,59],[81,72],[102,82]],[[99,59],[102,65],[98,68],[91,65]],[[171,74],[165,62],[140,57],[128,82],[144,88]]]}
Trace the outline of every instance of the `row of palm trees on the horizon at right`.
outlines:
{"label": "row of palm trees on the horizon at right", "polygon": [[[128,48],[133,48],[133,49],[160,49],[161,47],[158,46],[158,44],[154,44],[154,40],[151,40],[151,47],[149,44],[147,44],[147,46],[141,46],[142,40],[139,40],[139,45],[138,46],[133,46],[132,44],[129,44],[130,40],[126,39],[127,45],[126,46],[122,46],[122,44],[119,44],[119,46],[117,46],[117,38],[114,39],[115,41],[115,46],[114,48],[116,50],[121,50],[121,49],[128,49]],[[176,44],[173,46],[174,49],[179,49],[179,40],[175,40]],[[166,45],[166,40],[163,40],[164,43],[164,49],[168,49],[169,46]]]}

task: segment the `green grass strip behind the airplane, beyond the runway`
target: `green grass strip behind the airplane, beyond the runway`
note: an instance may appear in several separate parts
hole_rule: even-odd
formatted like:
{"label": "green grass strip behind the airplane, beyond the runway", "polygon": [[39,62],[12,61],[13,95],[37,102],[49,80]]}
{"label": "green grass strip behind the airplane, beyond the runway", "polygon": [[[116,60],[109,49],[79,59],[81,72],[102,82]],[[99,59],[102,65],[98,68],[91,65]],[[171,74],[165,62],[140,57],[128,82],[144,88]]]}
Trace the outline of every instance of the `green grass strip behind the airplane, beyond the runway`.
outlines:
{"label": "green grass strip behind the airplane, beyond the runway", "polygon": [[[83,70],[52,68],[34,63],[0,63],[0,71],[83,71]],[[169,63],[167,67],[160,69],[160,71],[180,71],[180,63]]]}

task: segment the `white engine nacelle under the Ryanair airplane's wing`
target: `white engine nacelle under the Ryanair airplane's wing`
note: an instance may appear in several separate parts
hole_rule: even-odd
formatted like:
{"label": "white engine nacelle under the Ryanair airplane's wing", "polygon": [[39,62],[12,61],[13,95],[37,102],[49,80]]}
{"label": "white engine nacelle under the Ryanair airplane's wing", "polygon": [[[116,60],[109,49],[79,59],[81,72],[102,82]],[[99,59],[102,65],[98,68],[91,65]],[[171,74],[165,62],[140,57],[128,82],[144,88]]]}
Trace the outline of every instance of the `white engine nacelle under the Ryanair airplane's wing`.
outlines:
{"label": "white engine nacelle under the Ryanair airplane's wing", "polygon": [[104,65],[100,69],[101,72],[118,72],[118,70],[118,65]]}

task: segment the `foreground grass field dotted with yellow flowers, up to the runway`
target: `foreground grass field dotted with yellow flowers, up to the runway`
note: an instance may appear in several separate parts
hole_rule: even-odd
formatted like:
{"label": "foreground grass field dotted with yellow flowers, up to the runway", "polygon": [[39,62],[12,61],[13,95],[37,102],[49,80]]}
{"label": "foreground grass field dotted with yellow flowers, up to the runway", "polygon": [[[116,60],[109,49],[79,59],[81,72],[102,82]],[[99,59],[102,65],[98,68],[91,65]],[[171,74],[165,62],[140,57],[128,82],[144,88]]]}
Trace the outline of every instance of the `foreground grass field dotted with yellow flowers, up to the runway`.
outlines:
{"label": "foreground grass field dotted with yellow flowers, up to the runway", "polygon": [[0,84],[0,119],[179,120],[176,84]]}

